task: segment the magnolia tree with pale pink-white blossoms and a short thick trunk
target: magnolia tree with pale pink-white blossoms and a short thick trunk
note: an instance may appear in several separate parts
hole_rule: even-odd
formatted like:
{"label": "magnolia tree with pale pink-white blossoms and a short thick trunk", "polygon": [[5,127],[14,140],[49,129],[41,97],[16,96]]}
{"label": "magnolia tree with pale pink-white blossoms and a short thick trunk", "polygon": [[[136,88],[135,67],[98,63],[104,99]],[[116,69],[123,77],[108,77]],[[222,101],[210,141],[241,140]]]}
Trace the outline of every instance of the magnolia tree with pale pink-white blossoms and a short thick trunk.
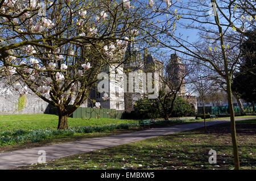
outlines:
{"label": "magnolia tree with pale pink-white blossoms and a short thick trunk", "polygon": [[20,95],[31,90],[55,106],[57,128],[68,128],[97,75],[122,64],[127,43],[151,42],[146,32],[159,33],[152,19],[170,3],[153,6],[151,0],[0,0],[1,74]]}

